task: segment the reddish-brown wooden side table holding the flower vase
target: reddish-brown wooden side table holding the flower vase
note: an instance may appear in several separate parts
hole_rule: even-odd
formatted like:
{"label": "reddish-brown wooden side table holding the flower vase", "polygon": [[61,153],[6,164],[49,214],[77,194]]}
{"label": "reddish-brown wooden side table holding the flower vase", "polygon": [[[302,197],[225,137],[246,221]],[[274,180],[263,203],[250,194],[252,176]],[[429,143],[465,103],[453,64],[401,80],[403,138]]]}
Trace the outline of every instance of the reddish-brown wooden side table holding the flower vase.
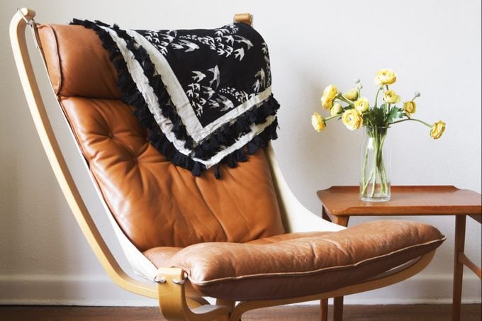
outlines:
{"label": "reddish-brown wooden side table holding the flower vase", "polygon": [[[359,200],[359,186],[332,186],[318,191],[323,204],[322,216],[338,225],[347,226],[350,216],[390,215],[454,215],[454,288],[452,298],[452,320],[460,320],[462,276],[464,265],[478,278],[481,267],[476,266],[464,254],[466,216],[481,223],[481,194],[454,186],[392,186],[391,200],[381,203],[366,203]],[[322,312],[327,312],[327,301],[322,300]],[[334,298],[335,320],[342,319],[343,298]],[[340,308],[341,307],[341,308]],[[326,315],[322,315],[326,320]]]}

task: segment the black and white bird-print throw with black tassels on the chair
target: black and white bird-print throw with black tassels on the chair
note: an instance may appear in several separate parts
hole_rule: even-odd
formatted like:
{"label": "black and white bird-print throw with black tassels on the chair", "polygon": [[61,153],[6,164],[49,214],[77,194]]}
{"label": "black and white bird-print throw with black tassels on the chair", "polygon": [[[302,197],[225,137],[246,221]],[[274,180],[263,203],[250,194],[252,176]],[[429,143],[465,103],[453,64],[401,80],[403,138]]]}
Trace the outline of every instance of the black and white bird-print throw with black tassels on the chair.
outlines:
{"label": "black and white bird-print throw with black tassels on the chair", "polygon": [[[173,164],[195,176],[236,167],[276,139],[267,44],[245,23],[204,30],[95,30],[118,71],[123,101]],[[247,153],[247,154],[246,154]]]}

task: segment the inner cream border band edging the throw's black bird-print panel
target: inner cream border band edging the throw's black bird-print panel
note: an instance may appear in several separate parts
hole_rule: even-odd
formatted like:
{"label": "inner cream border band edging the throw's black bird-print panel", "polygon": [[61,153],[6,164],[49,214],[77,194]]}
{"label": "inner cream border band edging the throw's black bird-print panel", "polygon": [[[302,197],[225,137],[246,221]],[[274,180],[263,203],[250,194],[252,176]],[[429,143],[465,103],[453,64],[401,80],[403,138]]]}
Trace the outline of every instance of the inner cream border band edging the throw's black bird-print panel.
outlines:
{"label": "inner cream border band edging the throw's black bird-print panel", "polygon": [[150,43],[146,38],[137,33],[135,30],[126,30],[128,35],[133,37],[135,41],[144,47],[149,53],[152,63],[155,65],[155,69],[158,74],[162,77],[162,82],[167,87],[167,92],[171,96],[172,103],[176,106],[176,111],[181,117],[182,123],[186,126],[186,131],[189,135],[196,141],[200,142],[206,138],[209,134],[213,133],[214,130],[220,128],[220,126],[228,123],[230,120],[240,116],[242,113],[250,109],[251,106],[262,103],[271,95],[271,86],[262,91],[261,93],[253,96],[244,103],[241,103],[237,107],[233,108],[228,113],[225,113],[222,117],[214,120],[212,123],[206,125],[203,128],[201,123],[199,123],[196,114],[189,103],[189,98],[187,98],[184,89],[182,89],[181,84],[177,80],[176,75],[172,71],[169,62],[162,55],[157,48]]}

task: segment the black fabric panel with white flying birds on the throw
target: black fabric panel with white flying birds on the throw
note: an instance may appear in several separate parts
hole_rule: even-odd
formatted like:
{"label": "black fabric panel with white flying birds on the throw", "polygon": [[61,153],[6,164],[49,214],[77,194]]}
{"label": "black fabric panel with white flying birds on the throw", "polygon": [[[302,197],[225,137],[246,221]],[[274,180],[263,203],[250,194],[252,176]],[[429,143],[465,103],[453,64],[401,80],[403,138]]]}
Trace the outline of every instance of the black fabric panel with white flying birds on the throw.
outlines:
{"label": "black fabric panel with white flying birds on the throw", "polygon": [[245,23],[137,32],[166,57],[202,125],[271,86],[267,44]]}

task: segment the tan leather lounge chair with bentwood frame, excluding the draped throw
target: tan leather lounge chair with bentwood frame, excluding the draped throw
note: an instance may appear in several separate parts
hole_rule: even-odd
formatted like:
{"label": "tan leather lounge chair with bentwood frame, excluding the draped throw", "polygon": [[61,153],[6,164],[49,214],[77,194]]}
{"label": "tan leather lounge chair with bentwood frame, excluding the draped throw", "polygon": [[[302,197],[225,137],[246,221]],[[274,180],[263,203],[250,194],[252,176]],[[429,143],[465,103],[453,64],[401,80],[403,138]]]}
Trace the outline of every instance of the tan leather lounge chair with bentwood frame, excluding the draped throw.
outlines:
{"label": "tan leather lounge chair with bentwood frame, excluding the draped throw", "polygon": [[[37,24],[34,16],[28,9],[13,16],[11,43],[52,169],[103,269],[125,290],[159,300],[167,319],[240,320],[255,308],[381,288],[424,269],[444,241],[422,223],[344,228],[318,218],[289,190],[270,144],[236,168],[220,164],[194,176],[176,167],[121,101],[116,68],[98,35],[84,26]],[[250,23],[250,16],[238,18]],[[27,26],[113,230],[142,279],[120,268],[74,184],[35,82]]]}

